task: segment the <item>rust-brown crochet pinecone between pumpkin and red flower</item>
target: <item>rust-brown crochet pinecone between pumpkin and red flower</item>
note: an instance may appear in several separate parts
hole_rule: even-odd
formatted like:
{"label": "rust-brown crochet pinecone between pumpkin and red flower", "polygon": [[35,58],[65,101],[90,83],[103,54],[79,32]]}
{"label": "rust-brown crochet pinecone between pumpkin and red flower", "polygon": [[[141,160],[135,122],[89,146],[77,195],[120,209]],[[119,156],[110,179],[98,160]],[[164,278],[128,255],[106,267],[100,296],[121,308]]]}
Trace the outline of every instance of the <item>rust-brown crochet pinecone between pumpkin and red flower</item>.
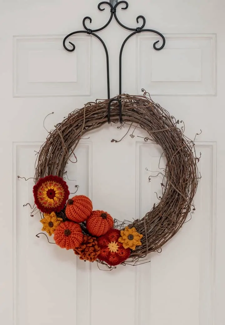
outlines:
{"label": "rust-brown crochet pinecone between pumpkin and red flower", "polygon": [[96,238],[84,235],[81,245],[74,249],[74,253],[79,255],[81,260],[89,262],[96,261],[98,254],[100,253],[100,248],[98,247]]}

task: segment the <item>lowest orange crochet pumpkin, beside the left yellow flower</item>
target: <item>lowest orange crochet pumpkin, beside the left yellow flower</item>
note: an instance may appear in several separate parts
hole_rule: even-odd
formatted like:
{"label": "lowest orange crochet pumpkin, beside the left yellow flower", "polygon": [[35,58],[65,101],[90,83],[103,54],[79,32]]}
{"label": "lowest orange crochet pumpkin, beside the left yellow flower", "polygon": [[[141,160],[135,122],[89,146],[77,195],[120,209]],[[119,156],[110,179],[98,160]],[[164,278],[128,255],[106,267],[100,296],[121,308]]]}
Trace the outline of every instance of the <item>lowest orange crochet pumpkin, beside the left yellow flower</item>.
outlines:
{"label": "lowest orange crochet pumpkin, beside the left yellow flower", "polygon": [[61,222],[54,232],[54,240],[61,248],[78,247],[83,240],[81,226],[71,221]]}

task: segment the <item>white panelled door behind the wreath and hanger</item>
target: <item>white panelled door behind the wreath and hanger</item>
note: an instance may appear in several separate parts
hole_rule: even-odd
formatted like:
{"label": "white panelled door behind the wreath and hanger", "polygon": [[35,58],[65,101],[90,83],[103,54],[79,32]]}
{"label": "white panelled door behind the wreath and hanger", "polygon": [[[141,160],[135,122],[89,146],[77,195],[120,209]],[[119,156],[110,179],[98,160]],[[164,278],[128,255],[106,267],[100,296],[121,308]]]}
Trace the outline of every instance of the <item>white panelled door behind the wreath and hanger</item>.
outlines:
{"label": "white panelled door behind the wreath and hanger", "polygon": [[[222,0],[130,1],[118,7],[121,21],[136,27],[144,15],[146,28],[166,37],[140,33],[123,53],[122,91],[150,92],[153,100],[185,122],[185,134],[196,138],[202,175],[196,211],[178,234],[140,266],[107,272],[82,262],[73,252],[35,237],[41,231],[33,203],[35,151],[47,130],[74,109],[107,98],[105,53],[86,34],[72,38],[76,50],[65,51],[63,38],[103,26],[109,8],[97,0],[0,0],[1,107],[1,236],[0,323],[222,325],[224,292],[224,76],[225,20]],[[123,5],[124,6],[124,5]],[[141,22],[140,22],[141,23]],[[129,32],[115,21],[99,33],[109,51],[111,97],[119,93],[119,49]],[[51,112],[44,122],[45,116]],[[119,220],[150,211],[160,193],[157,175],[161,148],[145,143],[135,130],[106,125],[77,148],[78,162],[69,163],[70,190],[88,195],[94,209]],[[138,137],[141,136],[141,137]],[[163,164],[163,162],[162,162]],[[146,170],[147,169],[147,170]],[[152,172],[150,172],[152,171]],[[216,226],[217,225],[217,226]]]}

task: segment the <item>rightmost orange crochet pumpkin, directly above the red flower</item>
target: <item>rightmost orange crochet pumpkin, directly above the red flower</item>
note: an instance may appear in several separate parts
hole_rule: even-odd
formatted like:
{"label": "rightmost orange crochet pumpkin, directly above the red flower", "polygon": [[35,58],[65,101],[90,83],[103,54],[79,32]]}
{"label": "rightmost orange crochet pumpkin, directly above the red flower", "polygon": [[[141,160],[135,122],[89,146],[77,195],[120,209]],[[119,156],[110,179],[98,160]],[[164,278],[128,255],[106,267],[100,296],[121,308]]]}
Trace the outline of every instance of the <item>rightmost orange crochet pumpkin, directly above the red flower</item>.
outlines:
{"label": "rightmost orange crochet pumpkin, directly above the red flower", "polygon": [[114,225],[113,218],[105,211],[93,211],[87,218],[86,227],[88,232],[96,237],[105,235]]}

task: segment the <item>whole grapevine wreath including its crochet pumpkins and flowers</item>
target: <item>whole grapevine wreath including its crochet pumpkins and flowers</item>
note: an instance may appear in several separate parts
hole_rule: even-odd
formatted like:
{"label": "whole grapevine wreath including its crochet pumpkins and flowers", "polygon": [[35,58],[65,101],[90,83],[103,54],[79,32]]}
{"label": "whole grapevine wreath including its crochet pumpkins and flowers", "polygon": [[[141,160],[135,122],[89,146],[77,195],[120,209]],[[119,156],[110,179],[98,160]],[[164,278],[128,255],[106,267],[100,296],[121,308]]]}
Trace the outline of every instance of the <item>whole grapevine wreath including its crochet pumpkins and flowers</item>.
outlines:
{"label": "whole grapevine wreath including its crochet pumpkins and flowers", "polygon": [[[149,137],[144,141],[161,146],[167,161],[159,202],[130,224],[119,223],[101,209],[93,211],[90,198],[70,195],[63,179],[66,164],[75,155],[81,137],[108,122],[109,104],[110,122],[145,130]],[[35,164],[33,195],[36,209],[41,212],[42,231],[53,235],[57,245],[72,249],[80,259],[97,261],[109,268],[136,265],[148,253],[160,251],[194,211],[199,178],[194,141],[184,136],[184,128],[178,123],[147,98],[146,92],[144,96],[122,94],[113,100],[96,100],[71,112],[49,132]]]}

